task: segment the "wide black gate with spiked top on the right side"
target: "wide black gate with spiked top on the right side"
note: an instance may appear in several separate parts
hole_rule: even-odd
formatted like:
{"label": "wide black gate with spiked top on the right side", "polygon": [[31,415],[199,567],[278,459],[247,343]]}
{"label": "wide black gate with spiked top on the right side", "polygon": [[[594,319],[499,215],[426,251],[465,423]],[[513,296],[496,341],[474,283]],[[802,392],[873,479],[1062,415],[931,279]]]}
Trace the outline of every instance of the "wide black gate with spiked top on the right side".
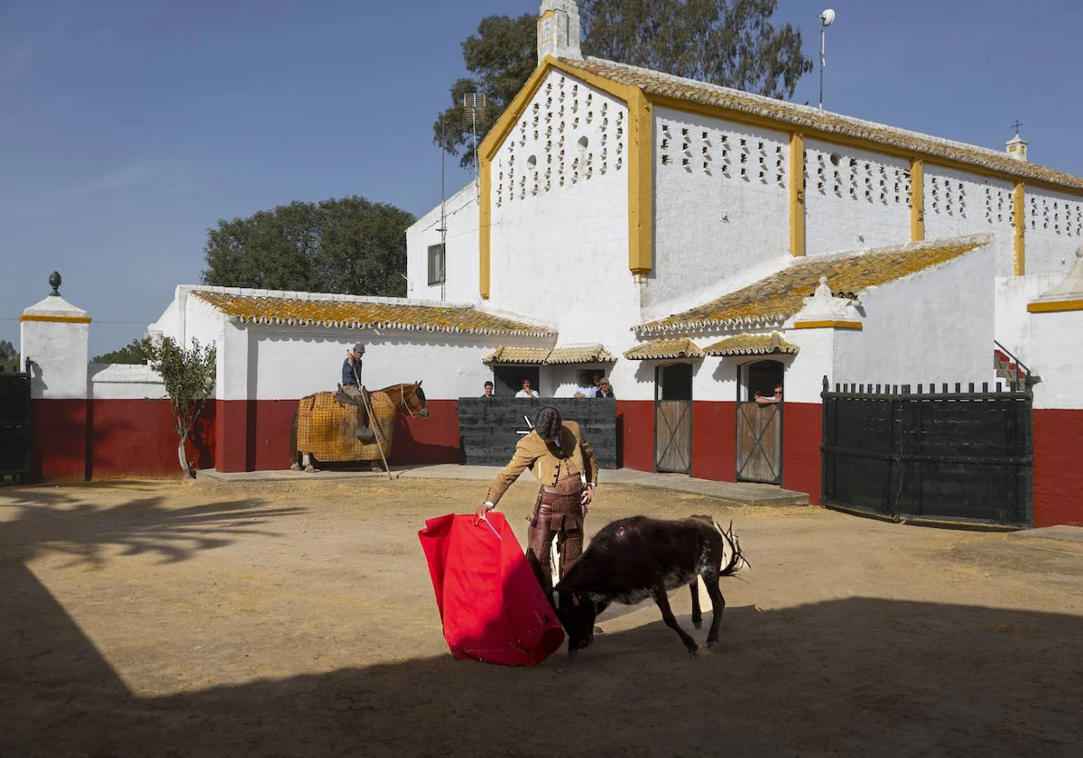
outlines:
{"label": "wide black gate with spiked top on the right side", "polygon": [[1032,522],[1029,387],[823,380],[824,505],[892,519]]}

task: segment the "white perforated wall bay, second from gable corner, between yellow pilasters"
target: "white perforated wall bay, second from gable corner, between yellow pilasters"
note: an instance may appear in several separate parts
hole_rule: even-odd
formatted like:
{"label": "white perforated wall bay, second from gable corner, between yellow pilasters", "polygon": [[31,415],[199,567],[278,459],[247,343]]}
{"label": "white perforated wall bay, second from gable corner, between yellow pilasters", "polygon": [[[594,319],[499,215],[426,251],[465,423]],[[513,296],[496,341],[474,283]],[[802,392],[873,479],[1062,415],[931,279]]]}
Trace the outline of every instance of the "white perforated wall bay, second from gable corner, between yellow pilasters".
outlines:
{"label": "white perforated wall bay, second from gable corner, between yellow pilasters", "polygon": [[910,161],[805,141],[805,253],[910,241]]}

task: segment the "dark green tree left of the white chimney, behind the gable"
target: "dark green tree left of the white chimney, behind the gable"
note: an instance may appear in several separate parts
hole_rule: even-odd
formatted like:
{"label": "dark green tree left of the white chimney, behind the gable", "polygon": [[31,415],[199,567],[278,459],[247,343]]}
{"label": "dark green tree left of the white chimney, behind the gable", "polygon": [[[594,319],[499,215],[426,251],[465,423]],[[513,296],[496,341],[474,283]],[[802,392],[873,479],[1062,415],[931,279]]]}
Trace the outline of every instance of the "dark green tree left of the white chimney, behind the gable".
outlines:
{"label": "dark green tree left of the white chimney, behind the gable", "polygon": [[478,122],[481,142],[537,65],[536,25],[530,13],[518,18],[486,16],[478,25],[478,34],[462,42],[462,61],[473,76],[452,84],[452,105],[432,126],[433,142],[459,155],[462,168],[473,166],[473,131],[462,108],[462,95],[481,92],[488,99],[484,118]]}

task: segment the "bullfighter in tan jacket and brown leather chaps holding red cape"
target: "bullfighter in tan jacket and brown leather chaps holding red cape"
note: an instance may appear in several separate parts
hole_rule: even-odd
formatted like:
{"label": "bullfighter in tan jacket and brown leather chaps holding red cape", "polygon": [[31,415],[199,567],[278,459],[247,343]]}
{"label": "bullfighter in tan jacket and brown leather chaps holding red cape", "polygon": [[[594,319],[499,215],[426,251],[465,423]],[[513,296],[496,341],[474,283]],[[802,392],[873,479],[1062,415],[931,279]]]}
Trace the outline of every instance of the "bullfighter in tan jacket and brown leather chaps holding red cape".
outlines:
{"label": "bullfighter in tan jacket and brown leather chaps holding red cape", "polygon": [[583,439],[579,424],[564,421],[557,408],[547,405],[538,411],[534,430],[516,445],[511,461],[493,480],[485,502],[474,515],[484,519],[526,469],[542,485],[529,517],[526,560],[549,597],[552,593],[549,550],[553,538],[560,553],[561,578],[583,552],[583,523],[598,486],[598,461],[593,448]]}

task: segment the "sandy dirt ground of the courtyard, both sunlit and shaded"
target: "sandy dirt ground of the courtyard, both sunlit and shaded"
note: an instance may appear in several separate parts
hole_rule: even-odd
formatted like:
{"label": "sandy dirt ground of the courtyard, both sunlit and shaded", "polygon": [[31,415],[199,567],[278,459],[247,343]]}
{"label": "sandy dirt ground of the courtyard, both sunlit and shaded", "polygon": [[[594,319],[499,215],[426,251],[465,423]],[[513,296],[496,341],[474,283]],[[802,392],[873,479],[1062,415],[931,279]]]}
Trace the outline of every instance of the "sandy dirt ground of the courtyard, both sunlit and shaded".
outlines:
{"label": "sandy dirt ground of the courtyard, both sunlit and shaded", "polygon": [[[603,486],[588,531],[733,519],[722,644],[690,659],[645,603],[574,666],[512,669],[452,659],[417,540],[484,489],[0,489],[0,755],[1083,749],[1083,545]],[[501,504],[521,540],[533,493]]]}

